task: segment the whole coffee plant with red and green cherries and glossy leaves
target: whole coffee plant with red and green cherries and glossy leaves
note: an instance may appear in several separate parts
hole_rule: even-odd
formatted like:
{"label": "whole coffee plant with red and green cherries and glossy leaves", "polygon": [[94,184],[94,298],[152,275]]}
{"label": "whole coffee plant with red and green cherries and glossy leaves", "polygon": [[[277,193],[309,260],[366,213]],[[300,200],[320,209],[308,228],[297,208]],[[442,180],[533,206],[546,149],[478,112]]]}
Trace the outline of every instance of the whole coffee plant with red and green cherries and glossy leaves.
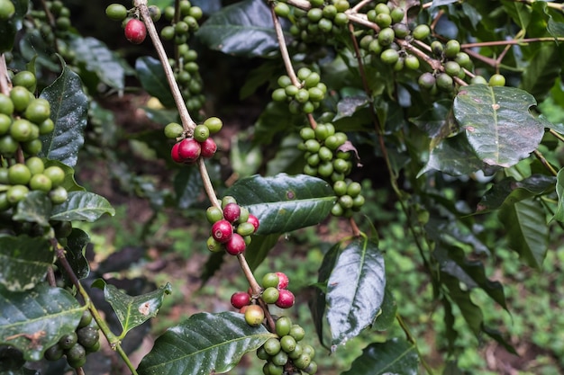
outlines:
{"label": "whole coffee plant with red and green cherries and glossy leaves", "polygon": [[[81,35],[71,3],[0,0],[2,373],[83,374],[90,358],[112,351],[140,375],[227,372],[246,353],[264,363],[266,375],[323,373],[318,362],[327,353],[394,324],[403,335],[372,340],[344,374],[463,373],[461,326],[516,354],[472,293],[481,290],[499,314],[509,312],[503,284],[487,272],[496,248],[541,269],[562,237],[564,126],[561,117],[550,122],[541,105],[564,106],[562,4],[88,4],[113,21],[103,23],[117,31],[108,33],[139,51],[132,69],[109,38]],[[257,94],[264,103],[241,136],[264,157],[245,168],[231,160],[232,170],[248,173],[229,183],[215,172],[229,165],[218,153],[230,124],[208,105],[205,78],[214,66],[200,63],[210,53],[249,63],[241,96]],[[130,354],[140,336],[133,345],[127,336],[146,332],[143,324],[175,290],[166,283],[132,295],[90,270],[81,222],[115,211],[75,179],[79,150],[96,131],[105,133],[102,99],[119,97],[132,74],[159,102],[146,109],[159,131],[148,129],[142,139],[165,159],[176,191],[146,196],[157,209],[202,210],[207,277],[238,263],[248,284],[232,294],[233,311],[200,312],[169,326],[135,364]],[[428,361],[424,337],[406,323],[395,299],[403,290],[387,283],[405,277],[386,266],[387,254],[404,249],[380,246],[364,178],[386,186],[406,219],[405,237],[423,264],[412,272],[432,285],[434,309],[425,313],[441,315],[444,325],[441,365]],[[492,218],[503,230],[488,230]],[[328,220],[339,221],[340,233],[316,265],[307,300],[284,270],[257,272],[277,243],[293,256],[279,238]],[[96,290],[105,301],[93,297]],[[316,332],[292,315],[305,304]]]}

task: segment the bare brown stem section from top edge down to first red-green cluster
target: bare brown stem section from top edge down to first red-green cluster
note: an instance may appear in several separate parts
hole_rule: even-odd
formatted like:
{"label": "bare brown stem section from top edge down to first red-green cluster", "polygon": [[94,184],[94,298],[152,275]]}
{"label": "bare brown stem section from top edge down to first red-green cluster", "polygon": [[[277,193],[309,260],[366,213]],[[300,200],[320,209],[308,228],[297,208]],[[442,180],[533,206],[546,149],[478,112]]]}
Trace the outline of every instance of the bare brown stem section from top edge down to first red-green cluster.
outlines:
{"label": "bare brown stem section from top edge down to first red-green cluster", "polygon": [[180,92],[177,80],[174,77],[174,72],[172,71],[170,64],[168,64],[167,53],[165,52],[165,48],[162,46],[162,42],[159,38],[159,33],[157,32],[157,29],[155,29],[155,24],[150,18],[149,8],[147,7],[147,0],[134,0],[133,5],[137,7],[141,12],[141,18],[145,23],[145,26],[147,27],[147,31],[149,31],[150,40],[153,42],[153,46],[157,50],[160,64],[165,70],[165,76],[167,76],[167,82],[170,86],[170,90],[172,91],[172,97],[174,98],[174,102],[177,104],[177,109],[180,114],[182,126],[184,127],[188,135],[192,135],[194,128],[196,128],[196,122],[192,120],[190,113],[188,113],[188,110],[186,109],[186,103],[184,103],[184,99],[182,98],[182,93]]}

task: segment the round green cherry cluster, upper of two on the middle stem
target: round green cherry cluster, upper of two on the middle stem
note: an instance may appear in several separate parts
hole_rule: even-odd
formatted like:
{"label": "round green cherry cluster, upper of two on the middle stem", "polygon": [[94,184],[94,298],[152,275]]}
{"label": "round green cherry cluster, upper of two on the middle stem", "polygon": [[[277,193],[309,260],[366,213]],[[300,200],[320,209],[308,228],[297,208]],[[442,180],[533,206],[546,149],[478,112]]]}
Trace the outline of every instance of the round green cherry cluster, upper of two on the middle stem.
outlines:
{"label": "round green cherry cluster, upper of two on the middle stem", "polygon": [[292,83],[289,76],[279,76],[278,88],[272,92],[275,102],[287,102],[290,113],[312,113],[319,107],[325,97],[327,86],[321,82],[321,76],[308,67],[301,67],[297,71],[297,85]]}

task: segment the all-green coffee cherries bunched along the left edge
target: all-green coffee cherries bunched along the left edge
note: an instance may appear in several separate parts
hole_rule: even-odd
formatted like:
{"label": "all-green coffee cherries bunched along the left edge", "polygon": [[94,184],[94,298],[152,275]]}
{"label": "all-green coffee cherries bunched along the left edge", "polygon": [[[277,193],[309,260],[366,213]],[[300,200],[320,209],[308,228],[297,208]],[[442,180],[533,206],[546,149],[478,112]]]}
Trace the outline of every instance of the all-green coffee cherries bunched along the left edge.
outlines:
{"label": "all-green coffee cherries bunched along the left edge", "polygon": [[[8,210],[23,201],[30,191],[45,192],[53,204],[67,201],[62,186],[65,172],[57,165],[46,167],[37,156],[41,135],[50,134],[55,124],[50,119],[50,103],[32,94],[36,85],[32,72],[14,76],[9,95],[0,94],[0,210]],[[23,151],[24,159],[18,156]]]}

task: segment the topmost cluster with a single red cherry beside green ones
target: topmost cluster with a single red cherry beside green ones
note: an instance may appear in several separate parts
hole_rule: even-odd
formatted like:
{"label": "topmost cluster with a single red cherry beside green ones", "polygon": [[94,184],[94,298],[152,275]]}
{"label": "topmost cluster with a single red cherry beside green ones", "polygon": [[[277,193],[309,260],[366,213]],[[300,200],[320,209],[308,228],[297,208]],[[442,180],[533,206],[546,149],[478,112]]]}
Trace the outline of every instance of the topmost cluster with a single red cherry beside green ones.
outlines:
{"label": "topmost cluster with a single red cherry beside green ones", "polygon": [[[160,19],[160,9],[156,5],[149,6],[150,18],[154,22]],[[135,8],[127,9],[123,4],[109,4],[105,8],[109,19],[122,22],[125,39],[133,44],[141,44],[147,38],[147,28],[140,19],[139,11]]]}

